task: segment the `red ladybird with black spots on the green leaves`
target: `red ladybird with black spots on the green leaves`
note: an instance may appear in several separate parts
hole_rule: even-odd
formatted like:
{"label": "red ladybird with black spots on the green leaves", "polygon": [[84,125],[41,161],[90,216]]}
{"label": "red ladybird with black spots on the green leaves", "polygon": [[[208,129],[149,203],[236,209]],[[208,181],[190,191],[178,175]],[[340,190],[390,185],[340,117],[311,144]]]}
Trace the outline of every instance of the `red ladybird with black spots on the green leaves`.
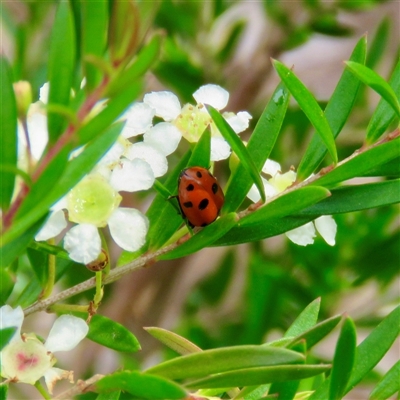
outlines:
{"label": "red ladybird with black spots on the green leaves", "polygon": [[191,226],[206,226],[218,217],[224,193],[207,169],[190,167],[179,175],[178,201]]}

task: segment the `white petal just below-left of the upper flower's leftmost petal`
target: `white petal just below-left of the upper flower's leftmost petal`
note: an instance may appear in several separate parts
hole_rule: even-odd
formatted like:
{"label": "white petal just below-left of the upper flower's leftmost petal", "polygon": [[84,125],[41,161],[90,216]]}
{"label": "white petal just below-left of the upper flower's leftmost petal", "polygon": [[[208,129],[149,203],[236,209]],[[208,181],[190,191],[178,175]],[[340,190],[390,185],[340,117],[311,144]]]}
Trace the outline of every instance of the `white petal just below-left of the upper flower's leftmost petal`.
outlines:
{"label": "white petal just below-left of the upper flower's leftmost petal", "polygon": [[145,133],[153,125],[154,108],[146,103],[134,103],[122,116],[126,119],[121,135],[130,138]]}

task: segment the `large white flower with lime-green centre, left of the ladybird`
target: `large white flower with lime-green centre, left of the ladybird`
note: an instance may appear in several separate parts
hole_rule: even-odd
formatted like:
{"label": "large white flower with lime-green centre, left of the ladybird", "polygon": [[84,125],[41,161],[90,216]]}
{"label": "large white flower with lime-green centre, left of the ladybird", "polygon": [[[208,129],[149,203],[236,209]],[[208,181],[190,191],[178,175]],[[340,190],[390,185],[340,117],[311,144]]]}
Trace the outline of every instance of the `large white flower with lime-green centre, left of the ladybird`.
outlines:
{"label": "large white flower with lime-green centre, left of the ladybird", "polygon": [[[137,175],[133,181],[126,177],[131,173]],[[146,180],[147,176],[152,177],[150,181]],[[132,186],[127,187],[124,181]],[[64,237],[64,248],[70,258],[82,264],[95,261],[101,253],[98,228],[106,225],[114,241],[124,250],[134,251],[132,249],[142,247],[148,231],[147,217],[135,209],[118,208],[121,201],[118,190],[140,190],[153,182],[150,166],[135,158],[133,161],[126,159],[121,169],[114,169],[110,182],[102,175],[93,173],[76,185],[66,196],[66,201],[59,203],[68,210],[69,220],[78,223]],[[126,218],[116,217],[121,213],[125,213]],[[35,239],[50,239],[58,235],[65,225],[63,211],[54,210]]]}

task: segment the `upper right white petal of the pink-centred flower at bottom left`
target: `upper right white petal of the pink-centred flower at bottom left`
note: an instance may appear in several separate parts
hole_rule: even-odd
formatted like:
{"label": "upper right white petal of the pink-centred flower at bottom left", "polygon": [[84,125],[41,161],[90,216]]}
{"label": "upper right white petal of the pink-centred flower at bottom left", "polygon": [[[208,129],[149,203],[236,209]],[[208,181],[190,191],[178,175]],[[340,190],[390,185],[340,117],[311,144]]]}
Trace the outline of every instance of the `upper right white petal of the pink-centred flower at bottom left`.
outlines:
{"label": "upper right white petal of the pink-centred flower at bottom left", "polygon": [[55,320],[44,345],[52,353],[69,351],[86,337],[88,331],[88,324],[82,318],[61,315]]}

